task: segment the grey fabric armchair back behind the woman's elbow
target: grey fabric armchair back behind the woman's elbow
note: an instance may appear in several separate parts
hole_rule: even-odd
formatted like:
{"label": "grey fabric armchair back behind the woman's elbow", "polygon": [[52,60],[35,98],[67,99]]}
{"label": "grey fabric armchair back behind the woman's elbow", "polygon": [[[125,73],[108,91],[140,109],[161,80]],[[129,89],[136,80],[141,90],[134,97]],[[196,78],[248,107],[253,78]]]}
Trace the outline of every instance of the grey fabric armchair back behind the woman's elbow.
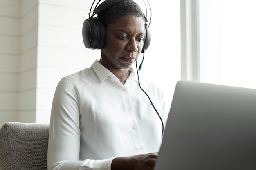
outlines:
{"label": "grey fabric armchair back behind the woman's elbow", "polygon": [[49,124],[6,123],[0,129],[0,170],[47,170]]}

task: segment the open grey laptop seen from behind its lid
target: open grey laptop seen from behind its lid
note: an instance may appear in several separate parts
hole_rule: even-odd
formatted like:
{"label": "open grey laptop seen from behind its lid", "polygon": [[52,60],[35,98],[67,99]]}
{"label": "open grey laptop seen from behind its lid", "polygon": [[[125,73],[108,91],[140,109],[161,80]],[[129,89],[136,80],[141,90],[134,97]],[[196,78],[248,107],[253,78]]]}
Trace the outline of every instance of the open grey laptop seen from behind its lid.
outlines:
{"label": "open grey laptop seen from behind its lid", "polygon": [[256,89],[179,81],[155,170],[256,170]]}

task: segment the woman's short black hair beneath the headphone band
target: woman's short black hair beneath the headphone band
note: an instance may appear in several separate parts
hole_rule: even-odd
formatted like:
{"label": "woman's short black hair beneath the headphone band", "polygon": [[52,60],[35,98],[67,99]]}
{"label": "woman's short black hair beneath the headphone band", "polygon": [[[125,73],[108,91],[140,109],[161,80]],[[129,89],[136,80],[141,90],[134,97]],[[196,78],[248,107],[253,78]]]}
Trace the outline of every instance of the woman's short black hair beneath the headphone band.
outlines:
{"label": "woman's short black hair beneath the headphone band", "polygon": [[98,17],[101,19],[105,28],[109,24],[114,23],[119,17],[133,15],[135,17],[142,17],[145,20],[145,16],[139,5],[132,0],[122,0],[112,4],[110,7],[106,8],[104,11],[99,13]]}

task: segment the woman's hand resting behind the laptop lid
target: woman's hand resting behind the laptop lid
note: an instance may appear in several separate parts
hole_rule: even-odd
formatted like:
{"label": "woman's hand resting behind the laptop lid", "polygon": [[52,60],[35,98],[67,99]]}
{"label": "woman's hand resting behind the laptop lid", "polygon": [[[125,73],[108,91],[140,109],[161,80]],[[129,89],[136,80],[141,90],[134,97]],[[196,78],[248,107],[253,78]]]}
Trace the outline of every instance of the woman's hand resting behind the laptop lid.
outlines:
{"label": "woman's hand resting behind the laptop lid", "polygon": [[153,170],[158,153],[115,158],[111,170]]}

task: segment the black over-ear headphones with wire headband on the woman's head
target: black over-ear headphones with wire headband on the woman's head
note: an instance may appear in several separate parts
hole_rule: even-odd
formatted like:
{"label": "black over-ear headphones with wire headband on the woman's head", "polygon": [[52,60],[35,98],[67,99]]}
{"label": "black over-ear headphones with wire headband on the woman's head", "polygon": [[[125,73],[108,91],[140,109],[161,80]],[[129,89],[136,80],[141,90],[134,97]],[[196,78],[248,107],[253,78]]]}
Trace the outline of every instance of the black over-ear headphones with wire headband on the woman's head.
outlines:
{"label": "black over-ear headphones with wire headband on the woman's head", "polygon": [[[99,2],[100,1],[101,0],[99,0]],[[89,18],[83,22],[83,29],[82,29],[83,44],[85,45],[86,48],[101,49],[104,47],[105,37],[106,37],[105,26],[99,17],[93,17],[93,16],[96,14],[98,15],[99,13],[104,11],[106,8],[110,7],[112,4],[115,4],[116,2],[119,2],[119,1],[121,0],[105,0],[99,6],[97,6],[99,4],[98,2],[96,4],[97,7],[95,7],[93,10],[92,16],[90,16],[91,10],[92,10],[92,7],[91,7]],[[94,4],[94,2],[92,3],[92,5]],[[150,9],[150,13],[151,13],[151,9]],[[151,41],[151,34],[150,34],[150,31],[148,30],[148,27],[151,23],[151,16],[148,24],[147,24],[148,20],[145,15],[144,15],[144,18],[146,20],[146,23],[145,23],[144,46],[141,51],[142,53],[146,51]]]}

